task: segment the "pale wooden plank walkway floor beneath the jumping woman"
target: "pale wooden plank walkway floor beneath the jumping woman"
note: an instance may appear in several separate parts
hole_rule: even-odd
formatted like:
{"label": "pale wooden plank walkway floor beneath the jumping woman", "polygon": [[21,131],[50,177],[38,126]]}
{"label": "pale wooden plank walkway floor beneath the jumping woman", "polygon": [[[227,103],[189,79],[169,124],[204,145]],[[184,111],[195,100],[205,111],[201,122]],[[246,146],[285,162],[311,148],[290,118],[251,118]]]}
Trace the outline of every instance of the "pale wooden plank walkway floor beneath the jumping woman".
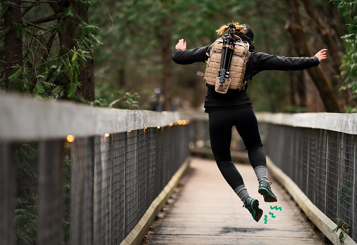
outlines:
{"label": "pale wooden plank walkway floor beneath the jumping woman", "polygon": [[[272,178],[277,203],[265,203],[258,194],[258,181],[249,164],[236,165],[248,192],[264,211],[257,223],[229,187],[213,160],[192,158],[190,176],[156,228],[142,242],[163,244],[325,244],[300,208]],[[272,206],[281,207],[271,210]],[[275,218],[272,218],[273,213]],[[267,215],[265,224],[264,215]]]}

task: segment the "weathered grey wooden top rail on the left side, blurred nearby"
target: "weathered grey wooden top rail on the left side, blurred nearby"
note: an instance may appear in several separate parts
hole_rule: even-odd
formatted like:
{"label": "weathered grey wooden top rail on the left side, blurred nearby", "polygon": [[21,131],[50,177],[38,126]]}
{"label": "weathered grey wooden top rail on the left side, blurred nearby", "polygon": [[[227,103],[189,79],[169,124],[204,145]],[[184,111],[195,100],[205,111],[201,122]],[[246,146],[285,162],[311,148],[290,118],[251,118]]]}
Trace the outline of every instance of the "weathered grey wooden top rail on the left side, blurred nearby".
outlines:
{"label": "weathered grey wooden top rail on the left side, blurred nearby", "polygon": [[[179,119],[178,112],[94,108],[69,102],[0,97],[1,140],[56,139],[164,127]],[[55,130],[54,130],[55,129]]]}

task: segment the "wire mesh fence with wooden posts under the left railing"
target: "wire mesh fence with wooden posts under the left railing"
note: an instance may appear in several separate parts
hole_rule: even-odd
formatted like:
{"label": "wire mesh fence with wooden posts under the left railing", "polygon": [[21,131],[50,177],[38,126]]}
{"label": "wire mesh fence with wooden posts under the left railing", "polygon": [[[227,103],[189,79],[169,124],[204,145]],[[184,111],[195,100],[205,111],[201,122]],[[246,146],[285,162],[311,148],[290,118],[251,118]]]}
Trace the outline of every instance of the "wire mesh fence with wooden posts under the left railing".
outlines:
{"label": "wire mesh fence with wooden posts under the left railing", "polygon": [[188,157],[189,128],[1,142],[0,244],[120,244]]}

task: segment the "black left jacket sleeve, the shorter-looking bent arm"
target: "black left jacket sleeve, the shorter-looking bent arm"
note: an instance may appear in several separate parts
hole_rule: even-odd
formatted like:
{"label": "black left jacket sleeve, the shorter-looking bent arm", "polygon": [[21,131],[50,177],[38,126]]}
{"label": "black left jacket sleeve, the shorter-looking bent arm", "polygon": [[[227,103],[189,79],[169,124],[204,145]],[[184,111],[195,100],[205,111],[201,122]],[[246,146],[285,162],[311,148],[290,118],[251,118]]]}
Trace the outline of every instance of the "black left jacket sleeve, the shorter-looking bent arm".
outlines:
{"label": "black left jacket sleeve, the shorter-looking bent arm", "polygon": [[188,49],[183,51],[182,49],[175,49],[172,52],[172,60],[180,65],[188,65],[195,62],[205,62],[206,52],[210,46]]}

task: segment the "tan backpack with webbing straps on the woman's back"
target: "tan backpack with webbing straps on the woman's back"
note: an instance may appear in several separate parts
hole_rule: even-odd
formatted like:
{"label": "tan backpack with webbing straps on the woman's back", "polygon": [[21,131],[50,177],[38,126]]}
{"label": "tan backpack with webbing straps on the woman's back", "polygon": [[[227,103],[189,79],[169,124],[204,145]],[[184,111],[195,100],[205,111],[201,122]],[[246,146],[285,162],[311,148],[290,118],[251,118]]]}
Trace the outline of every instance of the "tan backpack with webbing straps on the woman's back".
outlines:
{"label": "tan backpack with webbing straps on the woman's back", "polygon": [[[218,93],[226,93],[228,89],[238,89],[244,90],[246,83],[250,83],[251,80],[243,82],[246,63],[248,58],[251,56],[249,50],[249,44],[247,41],[242,41],[242,39],[236,35],[233,37],[236,40],[235,47],[232,45],[223,45],[223,37],[226,37],[228,34],[218,38],[211,46],[212,50],[210,55],[206,53],[208,60],[206,61],[206,71],[203,74],[200,71],[197,71],[197,75],[202,76],[203,81],[208,85],[215,86],[215,90]],[[208,48],[208,50],[211,48]],[[221,56],[222,51],[225,47],[229,47],[233,50],[231,65],[229,69],[228,78],[224,79],[223,86],[221,86],[220,81],[220,70],[221,70]],[[223,80],[222,80],[223,81]]]}

